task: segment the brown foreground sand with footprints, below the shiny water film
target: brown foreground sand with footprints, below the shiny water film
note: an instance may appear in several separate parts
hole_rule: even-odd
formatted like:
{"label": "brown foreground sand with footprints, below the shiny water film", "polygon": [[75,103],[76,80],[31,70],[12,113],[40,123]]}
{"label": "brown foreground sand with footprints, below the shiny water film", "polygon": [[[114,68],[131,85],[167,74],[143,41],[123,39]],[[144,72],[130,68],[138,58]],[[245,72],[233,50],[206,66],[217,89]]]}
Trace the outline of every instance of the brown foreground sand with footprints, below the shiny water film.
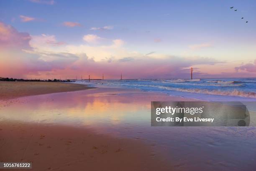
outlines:
{"label": "brown foreground sand with footprints, below the shiny water film", "polygon": [[34,171],[168,170],[151,147],[85,128],[0,122],[0,162],[32,162]]}

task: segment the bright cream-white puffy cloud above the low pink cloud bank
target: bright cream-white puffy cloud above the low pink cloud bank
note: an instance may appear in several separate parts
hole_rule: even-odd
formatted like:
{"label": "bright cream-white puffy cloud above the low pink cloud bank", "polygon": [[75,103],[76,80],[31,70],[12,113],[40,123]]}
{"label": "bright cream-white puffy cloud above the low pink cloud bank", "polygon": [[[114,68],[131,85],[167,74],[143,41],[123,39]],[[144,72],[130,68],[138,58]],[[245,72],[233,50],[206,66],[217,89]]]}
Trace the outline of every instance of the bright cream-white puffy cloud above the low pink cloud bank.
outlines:
{"label": "bright cream-white puffy cloud above the low pink cloud bank", "polygon": [[123,47],[125,42],[121,39],[108,40],[105,38],[100,38],[97,35],[90,34],[84,35],[83,39],[88,44],[84,43],[80,45],[67,45],[56,40],[56,36],[54,35],[42,34],[33,35],[32,40],[29,43],[33,48],[33,54],[40,55],[41,58],[44,58],[44,60],[46,59],[46,55],[42,54],[49,53],[69,53],[74,55],[86,53],[88,58],[93,59],[94,61],[102,61],[113,58],[115,58],[115,60],[119,60],[126,57],[136,58],[137,56],[143,55],[136,51],[127,50],[125,47]]}

